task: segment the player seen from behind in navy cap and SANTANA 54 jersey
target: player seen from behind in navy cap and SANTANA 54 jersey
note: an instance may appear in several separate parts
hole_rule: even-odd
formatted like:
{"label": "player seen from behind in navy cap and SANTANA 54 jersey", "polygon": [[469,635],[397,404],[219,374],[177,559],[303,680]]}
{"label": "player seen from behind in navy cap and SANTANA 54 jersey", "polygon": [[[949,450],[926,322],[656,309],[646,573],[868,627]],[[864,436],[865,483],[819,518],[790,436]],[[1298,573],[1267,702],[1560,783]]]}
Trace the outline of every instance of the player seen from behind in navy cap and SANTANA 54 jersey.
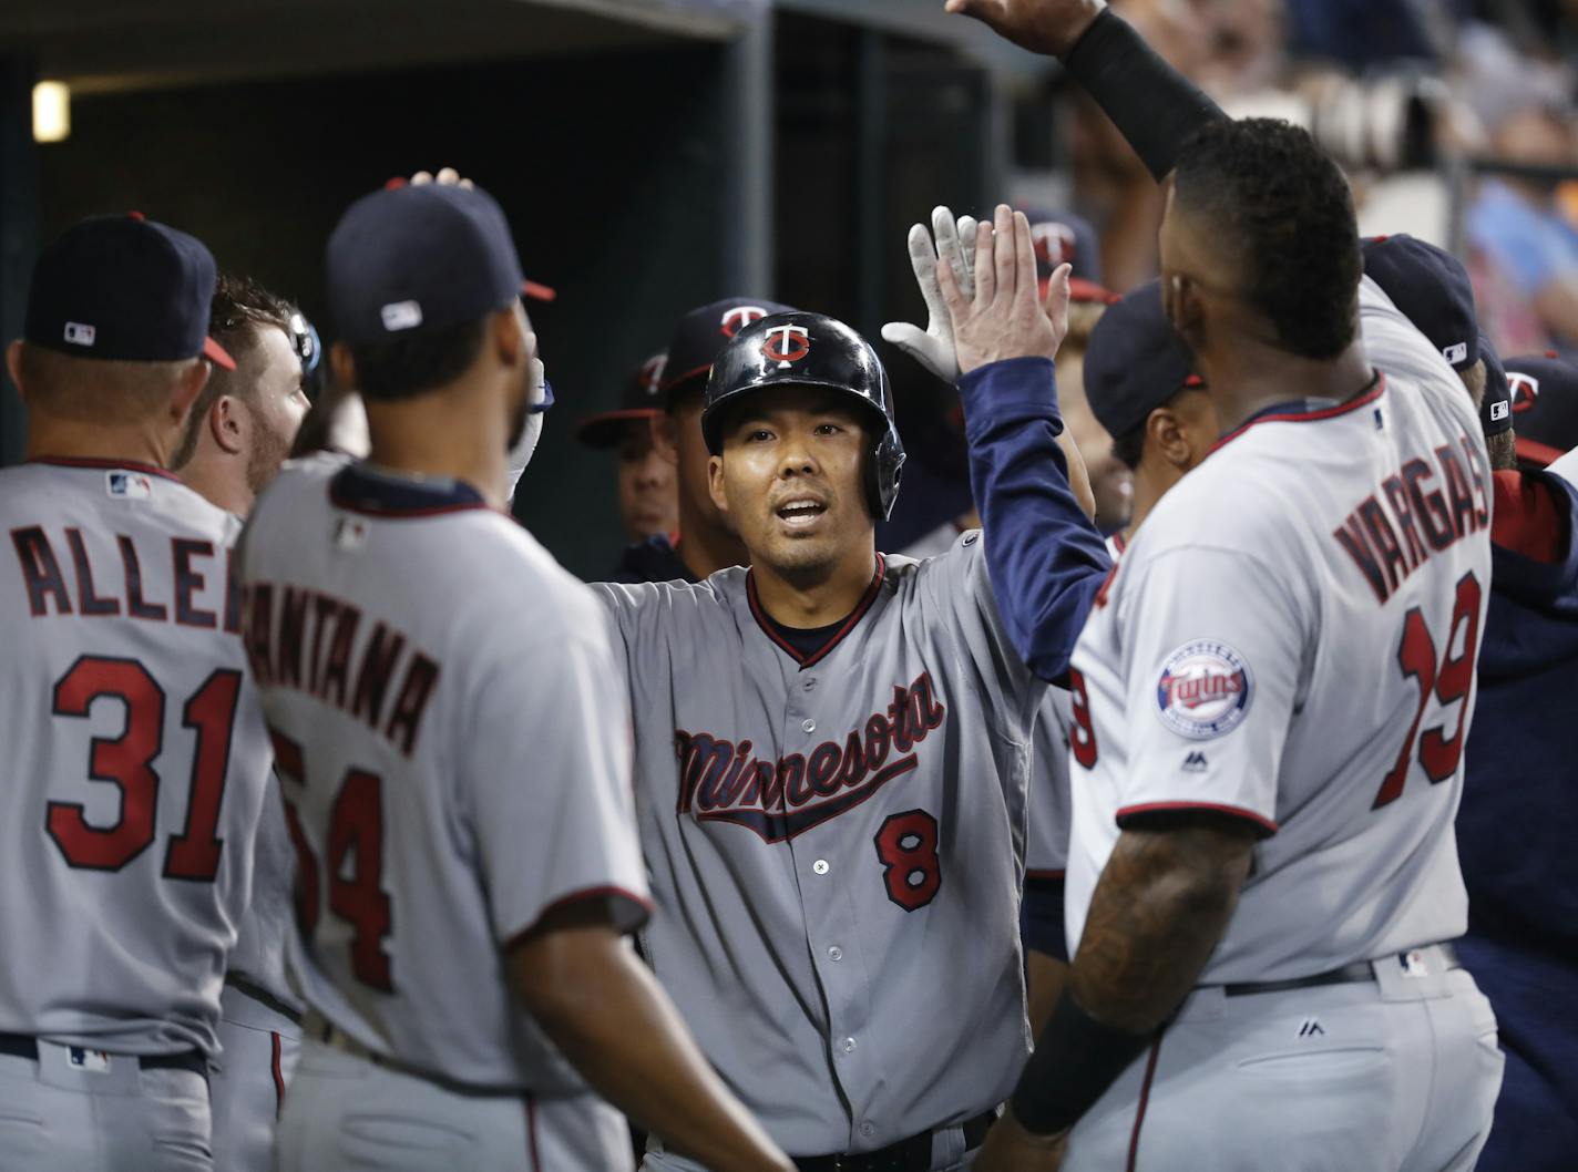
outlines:
{"label": "player seen from behind in navy cap and SANTANA 54 jersey", "polygon": [[312,1010],[279,1167],[628,1167],[590,1082],[718,1167],[786,1172],[623,939],[650,901],[617,669],[497,511],[540,379],[502,211],[383,189],[327,268],[371,462],[287,465],[241,555]]}

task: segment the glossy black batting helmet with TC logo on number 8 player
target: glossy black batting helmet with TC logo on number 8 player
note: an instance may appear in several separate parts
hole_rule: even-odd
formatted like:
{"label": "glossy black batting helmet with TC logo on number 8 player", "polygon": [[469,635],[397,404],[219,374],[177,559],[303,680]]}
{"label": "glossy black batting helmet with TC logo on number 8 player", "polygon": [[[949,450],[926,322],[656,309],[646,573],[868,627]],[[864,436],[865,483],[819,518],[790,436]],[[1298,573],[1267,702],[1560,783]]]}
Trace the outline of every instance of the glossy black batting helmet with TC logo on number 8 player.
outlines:
{"label": "glossy black batting helmet with TC logo on number 8 player", "polygon": [[876,437],[866,465],[866,498],[871,513],[887,521],[898,497],[904,443],[893,426],[893,393],[877,352],[847,325],[822,314],[795,311],[753,322],[723,349],[707,380],[701,413],[707,451],[723,451],[729,401],[772,386],[828,386],[865,404]]}

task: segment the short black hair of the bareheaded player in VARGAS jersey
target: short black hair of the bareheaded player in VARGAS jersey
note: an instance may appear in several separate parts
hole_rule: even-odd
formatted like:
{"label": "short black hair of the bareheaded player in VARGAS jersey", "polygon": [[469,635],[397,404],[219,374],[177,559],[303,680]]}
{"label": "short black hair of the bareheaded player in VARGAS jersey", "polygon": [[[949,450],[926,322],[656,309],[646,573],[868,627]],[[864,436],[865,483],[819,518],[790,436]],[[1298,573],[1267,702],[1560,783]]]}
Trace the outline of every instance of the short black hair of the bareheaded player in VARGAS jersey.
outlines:
{"label": "short black hair of the bareheaded player in VARGAS jersey", "polygon": [[1212,121],[1179,151],[1176,200],[1221,233],[1240,290],[1303,358],[1335,358],[1359,327],[1359,224],[1338,166],[1275,118]]}

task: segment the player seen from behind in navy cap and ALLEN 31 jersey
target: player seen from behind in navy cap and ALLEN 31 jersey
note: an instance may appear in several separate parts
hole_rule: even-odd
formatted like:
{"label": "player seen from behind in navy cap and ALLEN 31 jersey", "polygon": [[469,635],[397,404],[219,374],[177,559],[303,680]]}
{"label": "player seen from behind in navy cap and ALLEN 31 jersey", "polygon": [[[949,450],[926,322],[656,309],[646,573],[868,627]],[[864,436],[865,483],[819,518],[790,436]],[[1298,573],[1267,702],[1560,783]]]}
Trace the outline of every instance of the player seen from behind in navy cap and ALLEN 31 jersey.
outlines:
{"label": "player seen from behind in navy cap and ALLEN 31 jersey", "polygon": [[[196,443],[215,263],[140,216],[38,259],[0,472],[0,1166],[207,1172],[208,1063],[268,748]],[[25,896],[22,894],[25,893]]]}

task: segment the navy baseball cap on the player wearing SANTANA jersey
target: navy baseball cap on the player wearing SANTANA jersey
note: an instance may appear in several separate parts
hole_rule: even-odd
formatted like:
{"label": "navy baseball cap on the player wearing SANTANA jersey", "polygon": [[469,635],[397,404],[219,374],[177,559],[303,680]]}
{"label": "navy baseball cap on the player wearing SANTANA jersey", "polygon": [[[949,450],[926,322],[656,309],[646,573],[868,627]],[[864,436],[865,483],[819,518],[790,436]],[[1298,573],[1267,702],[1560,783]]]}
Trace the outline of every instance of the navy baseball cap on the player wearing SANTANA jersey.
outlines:
{"label": "navy baseball cap on the player wearing SANTANA jersey", "polygon": [[330,317],[352,345],[475,322],[529,292],[499,203],[458,185],[363,196],[328,238],[325,268]]}

